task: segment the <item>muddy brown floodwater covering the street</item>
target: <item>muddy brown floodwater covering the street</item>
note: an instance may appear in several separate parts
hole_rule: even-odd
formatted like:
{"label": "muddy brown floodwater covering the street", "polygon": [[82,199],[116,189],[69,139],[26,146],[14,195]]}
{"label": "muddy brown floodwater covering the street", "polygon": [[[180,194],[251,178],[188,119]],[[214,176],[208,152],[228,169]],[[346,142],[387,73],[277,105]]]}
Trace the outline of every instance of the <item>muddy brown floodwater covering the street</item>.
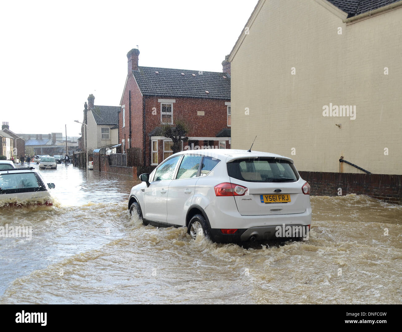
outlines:
{"label": "muddy brown floodwater covering the street", "polygon": [[0,208],[32,227],[0,237],[0,303],[402,303],[402,206],[312,196],[309,241],[245,249],[143,226],[129,177],[40,172],[54,206]]}

